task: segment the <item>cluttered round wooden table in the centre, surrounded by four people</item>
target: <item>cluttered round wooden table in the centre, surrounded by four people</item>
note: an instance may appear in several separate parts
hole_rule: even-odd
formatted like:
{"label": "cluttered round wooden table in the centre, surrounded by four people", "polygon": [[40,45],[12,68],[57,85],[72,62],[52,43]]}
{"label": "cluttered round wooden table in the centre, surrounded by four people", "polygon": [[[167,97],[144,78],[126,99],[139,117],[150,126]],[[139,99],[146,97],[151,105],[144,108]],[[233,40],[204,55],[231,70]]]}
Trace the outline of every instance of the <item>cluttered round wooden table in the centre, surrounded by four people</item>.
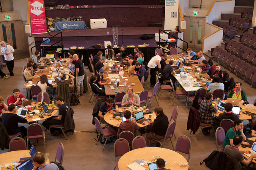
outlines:
{"label": "cluttered round wooden table in the centre, surrounded by four people", "polygon": [[[126,109],[128,109],[128,107],[120,107],[119,109],[121,109],[122,111],[125,111]],[[147,109],[146,109],[146,110],[147,110]],[[137,113],[138,111],[140,111],[140,110],[138,109],[138,110],[136,110],[136,111],[132,111],[132,113],[133,113],[133,112],[134,112],[134,113]],[[104,120],[105,120],[108,124],[110,124],[110,125],[112,125],[112,126],[119,127],[120,123],[122,123],[122,117],[121,117],[119,120],[113,119],[113,115],[114,115],[115,113],[116,113],[116,112],[115,112],[115,109],[108,111],[108,112],[104,115]],[[154,118],[154,117],[156,117],[156,114],[155,114],[154,112],[151,113],[151,114],[152,114],[151,119],[152,119],[152,120],[156,119],[156,118]],[[145,114],[144,117],[145,117],[146,119],[149,118],[149,117],[148,117],[148,114]],[[132,119],[132,121],[136,122],[135,119]],[[146,127],[146,125],[142,125],[142,124],[140,124],[140,123],[137,123],[137,124],[138,124],[140,127]]]}

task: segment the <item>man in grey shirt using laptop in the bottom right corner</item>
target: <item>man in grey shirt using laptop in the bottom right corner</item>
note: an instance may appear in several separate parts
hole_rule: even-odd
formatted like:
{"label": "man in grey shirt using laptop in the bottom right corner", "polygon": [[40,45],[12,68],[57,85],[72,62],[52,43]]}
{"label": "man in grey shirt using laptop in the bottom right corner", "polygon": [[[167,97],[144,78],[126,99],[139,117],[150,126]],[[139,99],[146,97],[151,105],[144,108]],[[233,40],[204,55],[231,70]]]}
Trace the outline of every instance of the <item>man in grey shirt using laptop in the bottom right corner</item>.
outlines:
{"label": "man in grey shirt using laptop in the bottom right corner", "polygon": [[[255,170],[255,168],[248,167],[248,165],[252,162],[253,158],[256,158],[256,154],[252,154],[247,160],[245,160],[242,153],[250,153],[250,150],[238,150],[238,147],[243,141],[243,137],[235,136],[232,138],[232,141],[232,145],[225,146],[225,153],[230,156],[234,170]],[[245,166],[242,166],[241,163]]]}

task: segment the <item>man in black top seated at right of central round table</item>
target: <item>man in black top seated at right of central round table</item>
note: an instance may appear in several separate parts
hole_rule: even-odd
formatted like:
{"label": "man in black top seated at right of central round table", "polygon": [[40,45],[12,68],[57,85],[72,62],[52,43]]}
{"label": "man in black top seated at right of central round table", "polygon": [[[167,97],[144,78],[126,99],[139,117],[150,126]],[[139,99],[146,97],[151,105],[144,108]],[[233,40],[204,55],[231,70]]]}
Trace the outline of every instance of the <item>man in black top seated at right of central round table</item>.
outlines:
{"label": "man in black top seated at right of central round table", "polygon": [[[150,139],[161,140],[164,139],[166,130],[168,128],[169,120],[168,117],[164,114],[164,110],[162,107],[156,107],[154,109],[156,114],[156,119],[154,121],[144,121],[143,123],[146,125],[146,131],[150,131],[150,133],[146,133],[143,137],[146,141]],[[156,143],[151,141],[152,143]],[[159,143],[156,143],[156,147],[160,147]]]}

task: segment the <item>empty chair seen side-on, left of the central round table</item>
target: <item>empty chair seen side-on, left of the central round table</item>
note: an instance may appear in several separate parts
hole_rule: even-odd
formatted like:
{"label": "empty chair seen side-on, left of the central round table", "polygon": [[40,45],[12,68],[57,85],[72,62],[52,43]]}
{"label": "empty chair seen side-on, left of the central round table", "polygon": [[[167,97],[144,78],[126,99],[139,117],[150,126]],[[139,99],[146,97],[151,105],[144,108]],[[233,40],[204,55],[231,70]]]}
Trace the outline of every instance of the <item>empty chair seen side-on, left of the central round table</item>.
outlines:
{"label": "empty chair seen side-on, left of the central round table", "polygon": [[[102,151],[103,151],[104,147],[106,145],[106,142],[108,141],[108,138],[116,136],[117,131],[114,128],[112,128],[112,127],[107,127],[107,128],[102,129],[102,127],[100,125],[100,122],[99,122],[97,117],[94,117],[94,122],[95,122],[96,127],[97,127],[98,131],[100,132],[100,134],[102,134],[103,137],[106,138],[106,141],[105,141],[105,143],[103,145],[103,148],[102,148]],[[100,139],[100,134],[99,134],[99,137],[97,139],[96,145],[97,145],[97,143],[98,143],[98,141]],[[128,145],[129,145],[129,143],[128,143]]]}

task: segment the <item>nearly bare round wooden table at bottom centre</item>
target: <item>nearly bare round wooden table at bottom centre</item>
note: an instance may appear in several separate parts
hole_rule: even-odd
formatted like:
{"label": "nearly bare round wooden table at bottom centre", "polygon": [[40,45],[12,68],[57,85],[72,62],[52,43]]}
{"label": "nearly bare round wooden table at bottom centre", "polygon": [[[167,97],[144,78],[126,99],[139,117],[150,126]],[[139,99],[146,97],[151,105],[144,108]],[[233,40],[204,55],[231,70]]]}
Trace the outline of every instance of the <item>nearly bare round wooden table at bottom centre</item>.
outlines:
{"label": "nearly bare round wooden table at bottom centre", "polygon": [[[120,170],[130,170],[127,165],[132,164],[136,160],[144,159],[144,160],[151,160],[153,156],[160,156],[160,158],[166,160],[165,168],[170,168],[171,170],[188,170],[188,166],[179,166],[177,162],[187,164],[188,161],[178,152],[175,152],[170,149],[166,148],[158,148],[158,147],[146,147],[146,148],[139,148],[131,150],[124,154],[118,161],[118,168]],[[170,162],[170,163],[167,163]],[[174,163],[176,162],[176,163]],[[148,168],[148,166],[144,167]]]}

